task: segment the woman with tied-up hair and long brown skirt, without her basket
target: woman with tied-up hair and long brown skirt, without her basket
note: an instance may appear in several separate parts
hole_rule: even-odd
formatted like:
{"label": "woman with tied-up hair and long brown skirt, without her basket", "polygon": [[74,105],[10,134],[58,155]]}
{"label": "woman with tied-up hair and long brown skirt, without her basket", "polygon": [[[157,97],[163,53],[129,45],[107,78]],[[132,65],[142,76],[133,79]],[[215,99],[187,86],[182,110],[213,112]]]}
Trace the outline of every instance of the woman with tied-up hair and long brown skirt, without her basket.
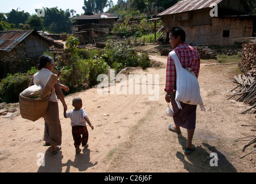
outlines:
{"label": "woman with tied-up hair and long brown skirt, without her basket", "polygon": [[[40,56],[38,68],[40,71],[33,75],[29,86],[36,84],[37,80],[39,80],[39,84],[43,87],[46,85],[48,77],[54,70],[54,60],[52,57],[47,55]],[[66,86],[62,86],[63,89],[64,87]],[[51,90],[47,112],[44,116],[43,140],[46,141],[46,144],[51,145],[52,154],[57,154],[57,152],[61,150],[62,141],[61,122],[59,121],[59,106],[56,94],[62,102],[64,109],[67,110],[59,79]]]}

